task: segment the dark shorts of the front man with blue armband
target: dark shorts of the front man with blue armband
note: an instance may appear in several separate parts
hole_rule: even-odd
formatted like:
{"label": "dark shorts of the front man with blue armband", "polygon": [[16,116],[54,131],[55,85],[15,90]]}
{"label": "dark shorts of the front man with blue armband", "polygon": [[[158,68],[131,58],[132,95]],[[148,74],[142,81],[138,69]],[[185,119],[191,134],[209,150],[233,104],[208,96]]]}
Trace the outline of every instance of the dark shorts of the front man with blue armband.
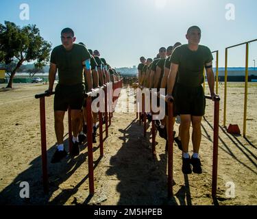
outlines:
{"label": "dark shorts of the front man with blue armband", "polygon": [[67,111],[69,106],[71,110],[82,110],[84,104],[84,89],[85,86],[83,83],[72,86],[58,83],[54,96],[54,111]]}

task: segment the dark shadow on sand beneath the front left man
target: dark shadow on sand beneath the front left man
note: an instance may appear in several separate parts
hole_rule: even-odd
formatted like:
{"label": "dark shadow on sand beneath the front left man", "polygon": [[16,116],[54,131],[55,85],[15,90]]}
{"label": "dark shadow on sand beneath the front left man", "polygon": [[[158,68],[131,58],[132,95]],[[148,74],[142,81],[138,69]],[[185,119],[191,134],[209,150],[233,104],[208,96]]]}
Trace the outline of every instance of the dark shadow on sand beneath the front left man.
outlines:
{"label": "dark shadow on sand beneath the front left man", "polygon": [[[64,148],[67,150],[69,145],[69,139],[64,140]],[[85,148],[86,145],[82,146]],[[94,151],[97,148],[94,148]],[[53,201],[49,202],[51,196],[54,192],[59,189],[59,185],[69,179],[71,175],[86,162],[86,157],[88,157],[88,152],[80,153],[77,157],[70,157],[69,155],[62,159],[58,164],[50,164],[51,157],[56,151],[55,144],[47,150],[47,166],[48,166],[48,176],[49,176],[49,192],[44,194],[42,186],[42,157],[41,155],[32,160],[29,164],[29,168],[21,172],[15,177],[15,179],[6,186],[0,192],[0,205],[61,205],[69,199],[69,197],[77,191],[77,188],[86,181],[88,176],[84,177],[75,188],[71,190],[62,190],[61,194],[58,195]],[[94,168],[99,163],[95,163]],[[19,187],[22,181],[27,181],[29,183],[29,198],[21,198],[19,196],[21,188]]]}

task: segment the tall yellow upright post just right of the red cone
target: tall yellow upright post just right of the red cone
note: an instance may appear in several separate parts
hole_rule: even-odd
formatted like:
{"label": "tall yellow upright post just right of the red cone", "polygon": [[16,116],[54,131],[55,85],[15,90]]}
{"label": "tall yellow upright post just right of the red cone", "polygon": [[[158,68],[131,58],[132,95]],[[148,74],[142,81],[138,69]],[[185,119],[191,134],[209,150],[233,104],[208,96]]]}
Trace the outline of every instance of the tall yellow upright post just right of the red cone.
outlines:
{"label": "tall yellow upright post just right of the red cone", "polygon": [[245,48],[245,103],[243,111],[243,137],[246,134],[246,119],[247,119],[247,96],[248,96],[248,64],[249,64],[249,43],[246,44]]}

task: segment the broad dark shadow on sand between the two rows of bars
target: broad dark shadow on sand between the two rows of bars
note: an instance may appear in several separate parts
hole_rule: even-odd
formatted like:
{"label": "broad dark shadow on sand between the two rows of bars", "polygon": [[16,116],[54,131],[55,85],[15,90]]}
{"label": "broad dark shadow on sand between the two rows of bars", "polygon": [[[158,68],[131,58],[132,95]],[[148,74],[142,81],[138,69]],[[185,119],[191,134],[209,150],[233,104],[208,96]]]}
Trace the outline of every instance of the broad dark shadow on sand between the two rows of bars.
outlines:
{"label": "broad dark shadow on sand between the two rows of bars", "polygon": [[126,129],[119,129],[123,144],[106,171],[119,180],[117,205],[178,205],[175,198],[169,200],[167,196],[167,155],[153,159],[151,150],[138,142],[141,128],[134,120]]}

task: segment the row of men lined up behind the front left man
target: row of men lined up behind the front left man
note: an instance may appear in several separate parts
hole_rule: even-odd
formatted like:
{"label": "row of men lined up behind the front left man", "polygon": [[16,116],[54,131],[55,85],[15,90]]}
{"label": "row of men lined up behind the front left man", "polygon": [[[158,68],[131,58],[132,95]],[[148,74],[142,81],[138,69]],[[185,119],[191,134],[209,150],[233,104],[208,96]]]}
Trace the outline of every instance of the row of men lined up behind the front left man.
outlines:
{"label": "row of men lined up behind the front left man", "polygon": [[[85,46],[83,42],[79,42],[79,44],[82,44]],[[101,57],[100,58],[100,53],[99,51],[95,50],[92,51],[91,49],[88,49],[91,57],[90,57],[90,66],[92,70],[92,77],[93,77],[93,88],[99,88],[103,86],[103,84],[109,83],[109,82],[115,82],[119,81],[120,79],[120,74],[117,73],[117,70],[114,68],[111,68],[109,64],[106,63],[106,60]],[[86,77],[85,77],[86,78]],[[85,84],[86,90],[87,88],[87,83]],[[94,96],[92,98],[92,101],[96,99],[97,96]],[[93,143],[97,143],[96,140],[96,135],[97,135],[97,123],[99,122],[98,114],[95,112],[92,112],[92,117],[93,117]],[[103,123],[105,115],[103,113]],[[87,132],[87,125],[86,125],[86,103],[84,103],[84,107],[82,110],[82,120],[81,124],[79,126],[79,144],[82,144],[86,140],[86,132]]]}

